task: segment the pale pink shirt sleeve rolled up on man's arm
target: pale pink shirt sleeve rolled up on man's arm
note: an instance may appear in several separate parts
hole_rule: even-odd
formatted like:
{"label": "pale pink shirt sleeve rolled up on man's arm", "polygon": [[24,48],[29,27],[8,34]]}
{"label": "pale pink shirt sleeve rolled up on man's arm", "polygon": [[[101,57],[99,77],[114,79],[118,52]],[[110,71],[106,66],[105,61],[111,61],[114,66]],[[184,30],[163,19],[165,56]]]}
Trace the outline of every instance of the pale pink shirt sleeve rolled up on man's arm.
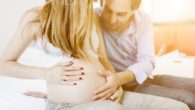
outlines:
{"label": "pale pink shirt sleeve rolled up on man's arm", "polygon": [[136,81],[141,84],[148,77],[152,77],[155,67],[154,35],[153,25],[149,16],[144,18],[142,32],[137,38],[137,59],[136,63],[130,65],[127,70],[135,74]]}

